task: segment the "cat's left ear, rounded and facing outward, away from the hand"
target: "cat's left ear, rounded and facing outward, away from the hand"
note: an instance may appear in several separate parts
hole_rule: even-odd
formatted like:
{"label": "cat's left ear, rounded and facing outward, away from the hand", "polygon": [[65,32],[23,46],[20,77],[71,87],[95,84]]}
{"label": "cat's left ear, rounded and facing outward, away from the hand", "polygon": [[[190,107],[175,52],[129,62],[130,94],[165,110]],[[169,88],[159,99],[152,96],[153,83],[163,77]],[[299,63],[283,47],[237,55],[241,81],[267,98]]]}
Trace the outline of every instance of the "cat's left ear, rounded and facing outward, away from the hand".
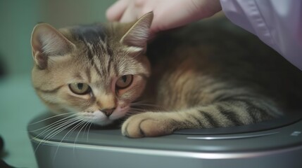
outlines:
{"label": "cat's left ear, rounded and facing outward, away from the hand", "polygon": [[38,24],[32,31],[32,56],[41,69],[47,67],[49,57],[65,55],[75,48],[61,32],[46,23]]}

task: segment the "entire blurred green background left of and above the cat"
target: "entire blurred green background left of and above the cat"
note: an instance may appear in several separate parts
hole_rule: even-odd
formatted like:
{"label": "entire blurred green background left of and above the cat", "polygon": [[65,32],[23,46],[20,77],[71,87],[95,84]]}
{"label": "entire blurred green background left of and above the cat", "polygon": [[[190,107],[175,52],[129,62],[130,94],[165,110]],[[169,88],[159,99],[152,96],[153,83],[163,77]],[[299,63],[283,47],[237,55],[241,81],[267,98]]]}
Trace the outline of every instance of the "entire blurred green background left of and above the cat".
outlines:
{"label": "entire blurred green background left of and above the cat", "polygon": [[32,89],[30,36],[34,25],[56,28],[106,22],[115,0],[0,0],[0,157],[14,167],[37,167],[27,137],[29,121],[46,108]]}

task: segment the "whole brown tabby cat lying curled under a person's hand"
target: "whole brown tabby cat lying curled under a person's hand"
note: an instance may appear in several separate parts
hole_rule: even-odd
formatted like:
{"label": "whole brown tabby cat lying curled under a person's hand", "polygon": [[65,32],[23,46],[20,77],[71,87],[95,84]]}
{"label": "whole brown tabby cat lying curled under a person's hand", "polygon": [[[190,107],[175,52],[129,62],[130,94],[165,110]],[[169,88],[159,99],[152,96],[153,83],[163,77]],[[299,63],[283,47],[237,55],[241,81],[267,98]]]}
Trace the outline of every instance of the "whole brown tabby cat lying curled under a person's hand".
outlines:
{"label": "whole brown tabby cat lying curled under a person's hand", "polygon": [[270,120],[301,95],[294,90],[301,72],[227,21],[205,20],[149,41],[152,19],[34,27],[39,97],[54,113],[96,125],[126,118],[122,134],[138,138]]}

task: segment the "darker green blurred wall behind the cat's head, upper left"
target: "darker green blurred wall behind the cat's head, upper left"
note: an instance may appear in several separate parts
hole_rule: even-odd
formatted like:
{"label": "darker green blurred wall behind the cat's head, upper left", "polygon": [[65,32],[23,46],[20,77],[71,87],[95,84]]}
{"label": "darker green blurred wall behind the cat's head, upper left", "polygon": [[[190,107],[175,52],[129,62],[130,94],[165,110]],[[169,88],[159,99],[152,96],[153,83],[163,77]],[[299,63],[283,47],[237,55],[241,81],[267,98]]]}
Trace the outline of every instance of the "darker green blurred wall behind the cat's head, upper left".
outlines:
{"label": "darker green blurred wall behind the cat's head, upper left", "polygon": [[30,35],[37,22],[60,28],[106,22],[113,0],[0,0],[0,59],[9,75],[30,73]]}

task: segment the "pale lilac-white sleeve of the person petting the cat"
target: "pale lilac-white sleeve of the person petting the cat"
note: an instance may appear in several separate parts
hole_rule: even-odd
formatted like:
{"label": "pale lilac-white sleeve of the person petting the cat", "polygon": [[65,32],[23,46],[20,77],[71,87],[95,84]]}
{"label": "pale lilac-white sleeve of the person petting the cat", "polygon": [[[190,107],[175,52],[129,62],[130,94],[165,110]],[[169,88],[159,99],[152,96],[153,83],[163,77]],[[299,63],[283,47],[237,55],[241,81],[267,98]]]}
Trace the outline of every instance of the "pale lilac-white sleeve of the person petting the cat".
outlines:
{"label": "pale lilac-white sleeve of the person petting the cat", "polygon": [[301,0],[220,0],[234,24],[256,34],[302,70]]}

